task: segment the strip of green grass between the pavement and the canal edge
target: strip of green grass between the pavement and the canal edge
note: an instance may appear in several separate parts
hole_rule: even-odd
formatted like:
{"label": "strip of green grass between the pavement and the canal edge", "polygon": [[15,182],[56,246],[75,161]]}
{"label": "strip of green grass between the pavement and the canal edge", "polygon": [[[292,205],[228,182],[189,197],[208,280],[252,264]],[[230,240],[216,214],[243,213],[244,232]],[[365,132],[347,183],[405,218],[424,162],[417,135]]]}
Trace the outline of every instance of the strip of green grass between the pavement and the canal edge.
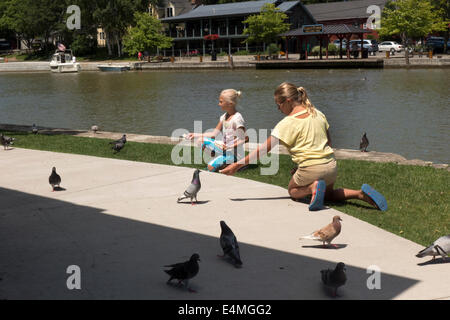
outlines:
{"label": "strip of green grass between the pavement and the canal edge", "polygon": [[[120,153],[113,154],[108,144],[111,140],[106,139],[5,134],[15,137],[14,146],[19,148],[172,165],[172,145],[127,142]],[[336,188],[360,189],[363,183],[368,183],[386,197],[389,209],[381,212],[358,200],[327,205],[424,246],[450,234],[450,172],[447,170],[356,160],[338,160],[337,163]],[[205,164],[185,166],[206,168]],[[276,175],[262,176],[259,166],[251,165],[236,176],[287,188],[293,166],[289,156],[280,155],[280,170]]]}

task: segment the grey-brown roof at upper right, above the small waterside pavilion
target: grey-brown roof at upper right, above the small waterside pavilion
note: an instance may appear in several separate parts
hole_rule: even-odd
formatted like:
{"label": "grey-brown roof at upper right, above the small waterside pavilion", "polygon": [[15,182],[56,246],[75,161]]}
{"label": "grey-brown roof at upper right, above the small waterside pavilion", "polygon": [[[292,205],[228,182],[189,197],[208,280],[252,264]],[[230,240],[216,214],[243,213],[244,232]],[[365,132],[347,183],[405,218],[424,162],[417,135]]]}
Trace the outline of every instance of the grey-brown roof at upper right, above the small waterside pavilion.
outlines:
{"label": "grey-brown roof at upper right, above the small waterside pavilion", "polygon": [[[358,0],[328,2],[305,5],[317,21],[343,20],[353,18],[368,18],[373,11],[367,12],[367,8],[372,5],[379,6],[383,10],[387,0]],[[381,14],[380,11],[380,14]]]}

